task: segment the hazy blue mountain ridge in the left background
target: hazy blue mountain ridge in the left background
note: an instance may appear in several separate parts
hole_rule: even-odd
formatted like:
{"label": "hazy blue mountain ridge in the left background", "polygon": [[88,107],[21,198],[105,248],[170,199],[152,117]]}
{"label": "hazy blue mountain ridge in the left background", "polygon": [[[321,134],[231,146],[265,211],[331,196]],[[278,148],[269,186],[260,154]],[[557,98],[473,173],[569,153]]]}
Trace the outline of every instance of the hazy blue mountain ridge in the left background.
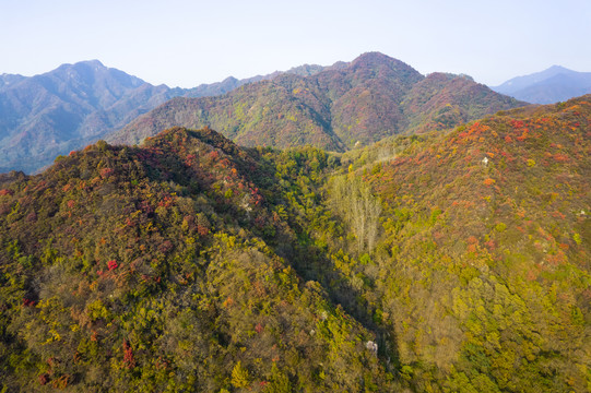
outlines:
{"label": "hazy blue mountain ridge in the left background", "polygon": [[[334,67],[339,67],[335,64]],[[287,73],[310,75],[302,66]],[[225,94],[282,72],[194,88],[154,86],[97,60],[63,64],[42,75],[0,75],[0,172],[36,171],[60,154],[84,147],[176,96]]]}

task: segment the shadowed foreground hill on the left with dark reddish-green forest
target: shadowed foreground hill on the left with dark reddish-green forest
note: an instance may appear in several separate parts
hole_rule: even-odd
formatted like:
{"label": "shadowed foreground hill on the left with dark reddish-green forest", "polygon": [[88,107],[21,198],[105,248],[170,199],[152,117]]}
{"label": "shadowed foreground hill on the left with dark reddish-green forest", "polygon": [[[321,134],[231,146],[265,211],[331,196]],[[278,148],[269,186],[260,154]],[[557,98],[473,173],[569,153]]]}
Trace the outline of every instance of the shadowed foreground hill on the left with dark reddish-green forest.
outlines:
{"label": "shadowed foreground hill on the left with dark reddish-green forest", "polygon": [[[297,170],[305,155],[283,162]],[[2,388],[392,390],[374,334],[292,267],[309,255],[273,163],[173,129],[4,175]]]}

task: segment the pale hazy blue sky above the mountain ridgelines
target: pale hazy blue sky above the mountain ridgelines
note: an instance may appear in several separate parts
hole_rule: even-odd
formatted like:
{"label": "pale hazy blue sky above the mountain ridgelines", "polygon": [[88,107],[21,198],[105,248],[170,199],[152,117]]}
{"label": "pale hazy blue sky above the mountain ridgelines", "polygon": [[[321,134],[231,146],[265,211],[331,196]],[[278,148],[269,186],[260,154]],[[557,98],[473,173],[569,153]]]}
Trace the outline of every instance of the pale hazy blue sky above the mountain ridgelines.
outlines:
{"label": "pale hazy blue sky above the mountain ridgelines", "polygon": [[0,0],[0,74],[98,59],[193,87],[367,51],[498,85],[591,72],[590,0]]}

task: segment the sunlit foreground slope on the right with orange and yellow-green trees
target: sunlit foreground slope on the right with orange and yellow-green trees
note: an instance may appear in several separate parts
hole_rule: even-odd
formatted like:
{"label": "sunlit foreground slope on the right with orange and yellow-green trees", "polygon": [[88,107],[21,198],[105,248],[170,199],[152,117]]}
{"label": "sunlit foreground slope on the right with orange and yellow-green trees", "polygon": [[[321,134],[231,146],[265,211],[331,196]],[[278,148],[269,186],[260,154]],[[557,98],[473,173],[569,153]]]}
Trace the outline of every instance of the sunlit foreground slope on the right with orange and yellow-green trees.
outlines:
{"label": "sunlit foreground slope on the right with orange and yellow-green trees", "polygon": [[381,235],[373,265],[344,260],[338,233],[329,249],[348,283],[368,277],[357,297],[416,391],[591,386],[590,130],[588,95],[343,157],[381,200]]}

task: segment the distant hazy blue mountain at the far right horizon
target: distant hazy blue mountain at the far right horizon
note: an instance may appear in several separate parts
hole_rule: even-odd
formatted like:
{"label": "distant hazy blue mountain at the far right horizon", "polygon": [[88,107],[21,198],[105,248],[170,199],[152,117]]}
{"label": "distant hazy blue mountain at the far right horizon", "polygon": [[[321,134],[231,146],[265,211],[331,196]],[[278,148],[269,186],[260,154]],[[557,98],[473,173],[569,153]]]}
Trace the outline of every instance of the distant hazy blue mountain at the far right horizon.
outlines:
{"label": "distant hazy blue mountain at the far right horizon", "polygon": [[490,88],[528,103],[552,104],[591,93],[591,72],[553,66],[545,71],[517,76]]}

